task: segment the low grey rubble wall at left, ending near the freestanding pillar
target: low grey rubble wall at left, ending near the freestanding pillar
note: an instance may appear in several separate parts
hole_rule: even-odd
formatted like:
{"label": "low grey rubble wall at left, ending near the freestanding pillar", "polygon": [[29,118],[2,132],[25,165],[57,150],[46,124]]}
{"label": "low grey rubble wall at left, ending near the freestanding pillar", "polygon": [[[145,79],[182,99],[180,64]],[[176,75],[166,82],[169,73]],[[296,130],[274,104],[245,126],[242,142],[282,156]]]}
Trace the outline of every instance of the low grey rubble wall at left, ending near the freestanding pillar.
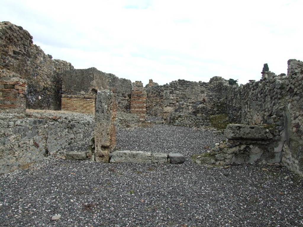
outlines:
{"label": "low grey rubble wall at left, ending near the freestanding pillar", "polygon": [[45,156],[89,151],[94,116],[80,113],[0,113],[0,173]]}

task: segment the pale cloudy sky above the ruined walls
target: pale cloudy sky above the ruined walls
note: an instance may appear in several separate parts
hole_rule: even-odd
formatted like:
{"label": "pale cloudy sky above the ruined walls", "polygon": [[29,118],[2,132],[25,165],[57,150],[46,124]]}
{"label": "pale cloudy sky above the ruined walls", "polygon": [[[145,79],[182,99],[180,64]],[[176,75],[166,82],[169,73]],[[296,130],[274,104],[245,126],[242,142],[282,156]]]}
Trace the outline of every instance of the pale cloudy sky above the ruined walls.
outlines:
{"label": "pale cloudy sky above the ruined walls", "polygon": [[159,84],[259,80],[303,60],[302,0],[0,1],[0,21],[75,68]]}

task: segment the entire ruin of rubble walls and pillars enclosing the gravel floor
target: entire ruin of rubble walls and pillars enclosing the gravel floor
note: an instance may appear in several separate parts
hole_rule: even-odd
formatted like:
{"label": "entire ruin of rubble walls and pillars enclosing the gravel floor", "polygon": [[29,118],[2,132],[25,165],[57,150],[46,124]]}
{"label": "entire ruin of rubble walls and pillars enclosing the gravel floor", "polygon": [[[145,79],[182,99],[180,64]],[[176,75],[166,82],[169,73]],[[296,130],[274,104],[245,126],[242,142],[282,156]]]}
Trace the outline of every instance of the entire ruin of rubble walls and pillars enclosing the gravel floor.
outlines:
{"label": "entire ruin of rubble walls and pillars enclosing the gravel floor", "polygon": [[225,129],[227,140],[195,155],[196,163],[280,163],[303,175],[302,61],[289,60],[280,75],[266,64],[260,81],[240,86],[213,77],[165,85],[150,80],[144,87],[54,60],[10,22],[0,23],[0,56],[1,173],[49,155],[108,163],[116,127],[164,123]]}

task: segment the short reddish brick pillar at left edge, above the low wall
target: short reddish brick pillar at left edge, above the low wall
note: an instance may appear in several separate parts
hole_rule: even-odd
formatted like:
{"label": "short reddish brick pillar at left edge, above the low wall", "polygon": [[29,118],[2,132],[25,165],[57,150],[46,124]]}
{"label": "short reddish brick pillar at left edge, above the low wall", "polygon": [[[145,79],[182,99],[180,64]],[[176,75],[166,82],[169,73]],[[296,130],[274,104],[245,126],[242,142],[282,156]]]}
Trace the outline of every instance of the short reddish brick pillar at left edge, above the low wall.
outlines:
{"label": "short reddish brick pillar at left edge, above the low wall", "polygon": [[1,77],[0,75],[0,110],[25,112],[26,81],[19,77]]}

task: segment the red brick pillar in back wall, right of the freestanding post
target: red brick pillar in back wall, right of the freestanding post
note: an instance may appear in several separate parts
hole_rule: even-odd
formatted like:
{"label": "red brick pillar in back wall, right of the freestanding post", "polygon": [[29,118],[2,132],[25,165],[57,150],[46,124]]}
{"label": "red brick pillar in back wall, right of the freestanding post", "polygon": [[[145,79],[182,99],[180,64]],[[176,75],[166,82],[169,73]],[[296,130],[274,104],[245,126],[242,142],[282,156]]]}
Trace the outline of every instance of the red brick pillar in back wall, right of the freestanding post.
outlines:
{"label": "red brick pillar in back wall, right of the freestanding post", "polygon": [[141,81],[132,83],[131,113],[138,115],[140,121],[145,121],[146,115],[146,90]]}

